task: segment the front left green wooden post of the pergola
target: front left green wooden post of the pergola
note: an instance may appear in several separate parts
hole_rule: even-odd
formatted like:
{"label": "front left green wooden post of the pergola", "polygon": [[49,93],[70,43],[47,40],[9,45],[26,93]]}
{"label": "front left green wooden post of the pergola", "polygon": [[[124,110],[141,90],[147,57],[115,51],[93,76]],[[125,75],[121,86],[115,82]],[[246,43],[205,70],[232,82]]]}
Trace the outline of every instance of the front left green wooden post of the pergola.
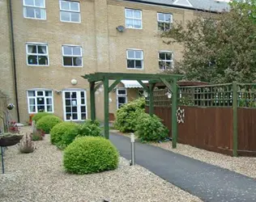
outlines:
{"label": "front left green wooden post of the pergola", "polygon": [[109,78],[104,78],[104,134],[109,139]]}

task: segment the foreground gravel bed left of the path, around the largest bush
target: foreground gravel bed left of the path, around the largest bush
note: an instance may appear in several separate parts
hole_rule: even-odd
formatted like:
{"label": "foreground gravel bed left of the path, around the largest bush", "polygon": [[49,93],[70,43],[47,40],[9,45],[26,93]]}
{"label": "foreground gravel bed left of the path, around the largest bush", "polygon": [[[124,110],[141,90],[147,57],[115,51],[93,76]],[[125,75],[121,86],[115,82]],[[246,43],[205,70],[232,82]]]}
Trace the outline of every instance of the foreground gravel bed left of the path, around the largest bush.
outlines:
{"label": "foreground gravel bed left of the path, around the largest bush", "polygon": [[124,158],[120,158],[117,170],[67,174],[62,151],[50,145],[49,135],[36,142],[32,154],[19,154],[16,146],[9,147],[5,166],[6,174],[0,174],[1,202],[202,201],[142,166],[129,166]]}

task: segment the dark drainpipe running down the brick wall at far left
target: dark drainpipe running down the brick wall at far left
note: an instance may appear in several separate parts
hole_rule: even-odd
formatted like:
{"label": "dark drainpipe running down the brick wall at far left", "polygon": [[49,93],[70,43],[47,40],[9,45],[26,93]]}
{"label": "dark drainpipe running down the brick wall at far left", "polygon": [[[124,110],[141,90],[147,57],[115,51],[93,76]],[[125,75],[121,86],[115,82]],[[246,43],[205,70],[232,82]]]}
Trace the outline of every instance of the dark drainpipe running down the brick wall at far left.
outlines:
{"label": "dark drainpipe running down the brick wall at far left", "polygon": [[17,72],[16,72],[16,61],[15,61],[15,40],[14,40],[14,33],[13,33],[13,19],[12,19],[12,7],[11,7],[11,0],[8,0],[8,9],[9,9],[9,19],[10,19],[10,44],[11,44],[11,57],[12,57],[12,68],[13,74],[15,78],[15,101],[16,101],[16,112],[17,118],[19,122],[19,101],[18,101],[18,90],[17,90]]}

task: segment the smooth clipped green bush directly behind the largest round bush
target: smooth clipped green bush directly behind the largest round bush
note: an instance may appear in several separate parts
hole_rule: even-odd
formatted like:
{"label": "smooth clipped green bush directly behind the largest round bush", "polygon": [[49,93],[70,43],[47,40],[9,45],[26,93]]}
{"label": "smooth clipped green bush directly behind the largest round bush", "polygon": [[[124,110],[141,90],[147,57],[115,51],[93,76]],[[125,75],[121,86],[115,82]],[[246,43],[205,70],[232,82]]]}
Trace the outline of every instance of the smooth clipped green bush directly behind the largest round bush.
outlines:
{"label": "smooth clipped green bush directly behind the largest round bush", "polygon": [[50,140],[53,145],[58,145],[60,148],[66,147],[78,133],[79,124],[74,122],[62,122],[55,126],[50,131]]}

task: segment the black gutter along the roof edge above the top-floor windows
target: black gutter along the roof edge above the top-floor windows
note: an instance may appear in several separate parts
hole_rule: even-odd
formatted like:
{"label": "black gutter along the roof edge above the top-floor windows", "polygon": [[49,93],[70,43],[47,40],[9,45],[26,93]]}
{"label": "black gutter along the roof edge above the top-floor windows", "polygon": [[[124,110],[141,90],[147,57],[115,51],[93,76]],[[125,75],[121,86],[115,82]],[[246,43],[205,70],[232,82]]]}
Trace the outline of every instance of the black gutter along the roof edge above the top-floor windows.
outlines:
{"label": "black gutter along the roof edge above the top-floor windows", "polygon": [[209,13],[214,13],[214,14],[220,14],[222,11],[207,11],[203,9],[198,9],[194,7],[186,7],[186,6],[178,6],[178,5],[173,5],[173,4],[165,4],[165,3],[160,3],[160,2],[145,2],[145,1],[140,1],[140,0],[122,0],[123,2],[137,2],[137,3],[143,3],[143,4],[149,4],[149,5],[155,5],[155,6],[166,6],[166,7],[173,7],[173,8],[179,8],[179,9],[186,9],[190,11],[202,11],[202,12],[209,12]]}

